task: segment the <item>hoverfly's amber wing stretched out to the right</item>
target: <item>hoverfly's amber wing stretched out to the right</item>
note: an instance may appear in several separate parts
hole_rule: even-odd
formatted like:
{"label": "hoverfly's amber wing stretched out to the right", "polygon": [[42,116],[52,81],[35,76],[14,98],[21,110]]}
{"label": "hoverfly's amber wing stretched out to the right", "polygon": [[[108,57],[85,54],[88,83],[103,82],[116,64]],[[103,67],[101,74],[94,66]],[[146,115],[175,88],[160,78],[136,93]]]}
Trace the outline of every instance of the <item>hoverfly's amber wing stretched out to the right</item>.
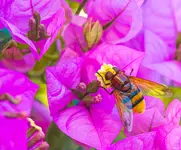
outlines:
{"label": "hoverfly's amber wing stretched out to the right", "polygon": [[134,76],[129,76],[129,79],[142,91],[145,96],[153,96],[156,98],[172,96],[172,91],[162,84]]}

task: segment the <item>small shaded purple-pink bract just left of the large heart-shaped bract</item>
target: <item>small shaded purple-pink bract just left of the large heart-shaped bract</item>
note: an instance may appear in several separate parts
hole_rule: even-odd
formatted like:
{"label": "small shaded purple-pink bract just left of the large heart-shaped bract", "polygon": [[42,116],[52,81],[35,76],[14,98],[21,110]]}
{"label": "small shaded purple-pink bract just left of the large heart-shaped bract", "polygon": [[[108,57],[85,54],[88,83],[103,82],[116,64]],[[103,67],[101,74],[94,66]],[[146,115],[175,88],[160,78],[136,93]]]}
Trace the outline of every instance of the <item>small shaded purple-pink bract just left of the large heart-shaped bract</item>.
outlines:
{"label": "small shaded purple-pink bract just left of the large heart-shaped bract", "polygon": [[44,133],[52,121],[50,112],[46,106],[35,100],[33,102],[31,118],[35,121],[36,125],[40,126]]}

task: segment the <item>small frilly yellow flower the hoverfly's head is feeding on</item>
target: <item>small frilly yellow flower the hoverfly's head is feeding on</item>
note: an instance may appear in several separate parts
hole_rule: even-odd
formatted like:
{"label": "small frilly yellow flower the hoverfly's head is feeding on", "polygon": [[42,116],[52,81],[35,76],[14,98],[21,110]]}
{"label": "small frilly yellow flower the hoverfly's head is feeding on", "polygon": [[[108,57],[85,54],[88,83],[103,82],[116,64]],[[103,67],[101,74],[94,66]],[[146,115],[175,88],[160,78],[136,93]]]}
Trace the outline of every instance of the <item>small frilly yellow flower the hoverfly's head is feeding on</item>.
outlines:
{"label": "small frilly yellow flower the hoverfly's head is feeding on", "polygon": [[[105,78],[105,75],[108,71],[110,71],[114,75],[116,74],[116,72],[113,70],[113,66],[111,64],[104,63],[101,66],[101,69],[98,70],[98,73],[95,74],[95,76],[97,77],[97,80],[101,82],[101,85],[104,88],[109,88],[111,85],[110,80],[106,80],[106,78]],[[109,85],[105,85],[105,84],[109,84]]]}

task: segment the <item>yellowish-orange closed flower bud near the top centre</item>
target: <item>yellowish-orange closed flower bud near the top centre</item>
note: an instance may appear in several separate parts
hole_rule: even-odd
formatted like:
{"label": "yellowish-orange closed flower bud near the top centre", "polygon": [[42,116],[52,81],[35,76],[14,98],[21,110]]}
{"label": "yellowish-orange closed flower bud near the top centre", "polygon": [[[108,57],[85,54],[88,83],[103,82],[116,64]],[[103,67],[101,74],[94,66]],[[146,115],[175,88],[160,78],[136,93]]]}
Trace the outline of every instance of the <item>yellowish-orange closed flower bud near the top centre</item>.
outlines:
{"label": "yellowish-orange closed flower bud near the top centre", "polygon": [[103,28],[99,21],[92,22],[92,19],[89,19],[84,25],[84,38],[87,42],[88,48],[91,48],[93,45],[97,44],[102,37]]}

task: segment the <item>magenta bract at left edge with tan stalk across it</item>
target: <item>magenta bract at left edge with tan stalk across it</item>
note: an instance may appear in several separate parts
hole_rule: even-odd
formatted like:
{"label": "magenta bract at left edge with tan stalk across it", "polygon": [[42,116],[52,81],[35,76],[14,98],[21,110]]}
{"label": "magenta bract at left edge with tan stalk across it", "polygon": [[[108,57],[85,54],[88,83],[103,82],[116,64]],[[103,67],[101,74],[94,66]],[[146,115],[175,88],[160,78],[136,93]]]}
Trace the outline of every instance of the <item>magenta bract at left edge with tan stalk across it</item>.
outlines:
{"label": "magenta bract at left edge with tan stalk across it", "polygon": [[0,115],[24,112],[30,114],[38,86],[25,75],[0,69]]}

